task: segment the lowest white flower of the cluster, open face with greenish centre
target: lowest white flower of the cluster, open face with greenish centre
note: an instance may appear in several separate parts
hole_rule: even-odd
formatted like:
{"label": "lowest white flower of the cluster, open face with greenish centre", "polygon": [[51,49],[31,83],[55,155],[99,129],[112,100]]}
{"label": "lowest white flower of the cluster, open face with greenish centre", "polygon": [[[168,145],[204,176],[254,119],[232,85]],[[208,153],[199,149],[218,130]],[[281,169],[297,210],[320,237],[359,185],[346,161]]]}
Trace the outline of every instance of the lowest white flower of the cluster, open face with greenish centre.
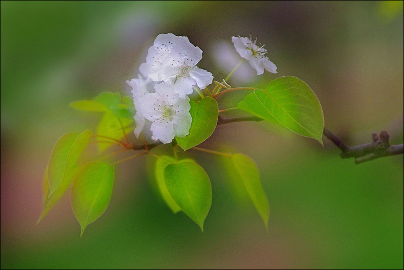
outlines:
{"label": "lowest white flower of the cluster, open face with greenish centre", "polygon": [[175,136],[185,137],[189,133],[192,117],[189,113],[191,105],[189,97],[179,98],[175,86],[166,83],[155,85],[155,93],[142,96],[140,111],[151,124],[151,139],[170,143]]}

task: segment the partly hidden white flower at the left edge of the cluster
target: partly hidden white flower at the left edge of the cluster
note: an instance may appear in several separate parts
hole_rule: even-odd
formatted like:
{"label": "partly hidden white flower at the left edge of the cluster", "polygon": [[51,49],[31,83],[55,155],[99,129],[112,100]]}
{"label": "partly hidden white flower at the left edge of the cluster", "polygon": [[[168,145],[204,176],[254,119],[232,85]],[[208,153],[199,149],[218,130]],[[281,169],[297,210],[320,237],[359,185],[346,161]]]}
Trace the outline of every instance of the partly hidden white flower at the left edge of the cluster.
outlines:
{"label": "partly hidden white flower at the left edge of the cluster", "polygon": [[138,79],[132,79],[130,81],[126,81],[127,84],[129,84],[130,87],[132,87],[132,95],[133,95],[133,104],[135,105],[136,109],[136,114],[135,114],[135,122],[136,122],[136,128],[135,128],[135,135],[136,138],[139,137],[140,132],[143,130],[144,127],[144,122],[145,118],[141,111],[139,110],[140,108],[140,100],[143,95],[146,93],[149,93],[151,91],[154,91],[154,84],[151,79],[143,79],[141,75],[138,75]]}

